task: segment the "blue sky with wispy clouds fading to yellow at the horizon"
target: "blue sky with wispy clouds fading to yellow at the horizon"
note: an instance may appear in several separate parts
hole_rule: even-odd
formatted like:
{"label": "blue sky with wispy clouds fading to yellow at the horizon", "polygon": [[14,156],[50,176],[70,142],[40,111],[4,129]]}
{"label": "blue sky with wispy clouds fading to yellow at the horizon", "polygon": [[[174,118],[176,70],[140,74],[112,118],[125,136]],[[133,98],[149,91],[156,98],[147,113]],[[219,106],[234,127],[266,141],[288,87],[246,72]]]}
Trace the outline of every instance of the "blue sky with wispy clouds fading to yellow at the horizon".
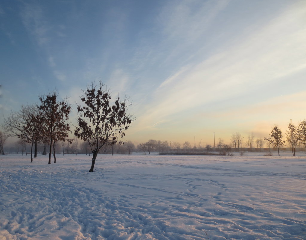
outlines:
{"label": "blue sky with wispy clouds fading to yellow at the horizon", "polygon": [[203,146],[285,137],[306,118],[306,1],[0,2],[0,121],[88,83],[129,97],[125,139]]}

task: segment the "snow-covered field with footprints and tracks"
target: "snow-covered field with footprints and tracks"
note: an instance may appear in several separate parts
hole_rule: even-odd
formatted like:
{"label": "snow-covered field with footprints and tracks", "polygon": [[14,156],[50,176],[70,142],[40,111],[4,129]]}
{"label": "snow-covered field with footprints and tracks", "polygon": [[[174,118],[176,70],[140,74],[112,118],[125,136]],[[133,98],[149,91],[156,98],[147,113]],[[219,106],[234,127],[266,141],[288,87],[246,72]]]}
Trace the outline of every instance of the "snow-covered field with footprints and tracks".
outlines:
{"label": "snow-covered field with footprints and tracks", "polygon": [[306,156],[248,155],[0,156],[0,240],[305,240]]}

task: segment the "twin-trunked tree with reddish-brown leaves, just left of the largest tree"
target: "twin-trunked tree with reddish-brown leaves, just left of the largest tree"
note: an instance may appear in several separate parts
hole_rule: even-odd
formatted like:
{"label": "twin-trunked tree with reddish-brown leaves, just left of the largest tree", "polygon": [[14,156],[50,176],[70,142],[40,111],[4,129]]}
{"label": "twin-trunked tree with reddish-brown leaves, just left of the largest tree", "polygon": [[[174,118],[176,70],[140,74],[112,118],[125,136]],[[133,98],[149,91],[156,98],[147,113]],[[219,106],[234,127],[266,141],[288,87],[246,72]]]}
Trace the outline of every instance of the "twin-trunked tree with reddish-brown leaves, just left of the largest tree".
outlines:
{"label": "twin-trunked tree with reddish-brown leaves, just left of the largest tree", "polygon": [[55,143],[68,139],[68,133],[70,131],[70,126],[67,121],[69,120],[71,106],[67,103],[67,98],[58,101],[57,97],[58,93],[55,91],[48,93],[46,96],[39,97],[41,102],[39,109],[42,112],[44,123],[43,133],[50,146],[48,164],[51,164],[52,146],[54,163],[56,163]]}

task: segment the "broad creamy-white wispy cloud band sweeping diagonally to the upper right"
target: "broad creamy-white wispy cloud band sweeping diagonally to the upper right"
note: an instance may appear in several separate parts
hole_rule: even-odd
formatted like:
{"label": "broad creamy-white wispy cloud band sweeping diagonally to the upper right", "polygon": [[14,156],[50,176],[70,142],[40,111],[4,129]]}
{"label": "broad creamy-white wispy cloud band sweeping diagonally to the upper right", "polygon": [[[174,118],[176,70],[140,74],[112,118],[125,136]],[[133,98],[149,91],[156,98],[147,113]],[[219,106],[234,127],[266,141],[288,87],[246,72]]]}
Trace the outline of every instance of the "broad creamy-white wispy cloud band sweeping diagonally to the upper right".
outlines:
{"label": "broad creamy-white wispy cloud band sweeping diagonally to the upper right", "polygon": [[204,61],[183,66],[159,85],[147,110],[139,112],[139,127],[151,128],[204,104],[255,94],[254,88],[305,70],[306,34],[295,25],[305,16],[305,9],[288,9]]}

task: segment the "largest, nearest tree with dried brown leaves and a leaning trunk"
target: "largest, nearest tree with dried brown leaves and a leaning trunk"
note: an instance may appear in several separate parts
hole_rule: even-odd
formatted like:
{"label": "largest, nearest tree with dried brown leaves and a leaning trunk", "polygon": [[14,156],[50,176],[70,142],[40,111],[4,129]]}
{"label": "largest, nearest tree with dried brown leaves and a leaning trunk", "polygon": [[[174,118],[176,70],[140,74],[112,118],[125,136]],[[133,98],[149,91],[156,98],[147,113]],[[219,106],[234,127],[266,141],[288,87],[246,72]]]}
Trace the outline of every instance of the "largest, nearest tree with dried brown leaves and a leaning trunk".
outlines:
{"label": "largest, nearest tree with dried brown leaves and a leaning trunk", "polygon": [[93,155],[89,172],[94,171],[99,150],[105,144],[124,143],[118,138],[123,138],[133,120],[126,114],[131,105],[129,99],[120,101],[118,97],[114,105],[110,106],[110,90],[103,90],[103,86],[101,79],[97,85],[94,82],[88,84],[87,90],[83,90],[84,95],[80,97],[84,105],[77,104],[78,126],[74,135],[87,141],[91,148]]}

